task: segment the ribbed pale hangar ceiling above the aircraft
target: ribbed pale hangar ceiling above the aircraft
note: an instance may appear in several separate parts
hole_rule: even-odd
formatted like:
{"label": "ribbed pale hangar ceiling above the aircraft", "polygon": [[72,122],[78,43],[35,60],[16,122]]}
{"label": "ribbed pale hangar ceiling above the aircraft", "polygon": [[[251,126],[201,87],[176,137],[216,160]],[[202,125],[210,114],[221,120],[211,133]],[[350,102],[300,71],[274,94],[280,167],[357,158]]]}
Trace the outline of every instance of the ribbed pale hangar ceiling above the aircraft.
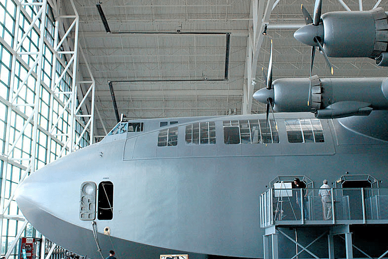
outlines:
{"label": "ribbed pale hangar ceiling above the aircraft", "polygon": [[[105,135],[102,124],[109,131],[117,123],[108,82],[118,113],[131,119],[244,113],[252,80],[253,93],[264,86],[260,70],[267,69],[271,38],[274,79],[309,76],[311,47],[293,38],[304,24],[300,0],[100,0],[111,33],[96,1],[74,3],[80,46],[96,80],[96,135]],[[314,0],[303,4],[313,13]],[[72,14],[70,1],[62,5],[63,14]],[[322,13],[377,6],[388,10],[381,0],[323,0]],[[251,49],[250,42],[258,47]],[[249,55],[252,51],[256,56]],[[387,76],[387,68],[374,60],[329,59],[334,77]],[[82,60],[78,69],[88,80]],[[320,77],[331,76],[320,54],[313,69]],[[245,108],[264,110],[255,100],[252,109]]]}

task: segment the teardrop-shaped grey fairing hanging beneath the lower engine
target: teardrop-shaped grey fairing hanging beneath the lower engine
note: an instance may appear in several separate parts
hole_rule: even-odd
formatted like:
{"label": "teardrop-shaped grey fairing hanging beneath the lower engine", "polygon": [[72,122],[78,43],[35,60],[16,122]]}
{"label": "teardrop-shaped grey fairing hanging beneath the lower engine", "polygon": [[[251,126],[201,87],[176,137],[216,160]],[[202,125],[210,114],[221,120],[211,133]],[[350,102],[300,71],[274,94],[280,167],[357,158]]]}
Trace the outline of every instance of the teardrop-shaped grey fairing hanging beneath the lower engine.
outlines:
{"label": "teardrop-shaped grey fairing hanging beneath the lower engine", "polygon": [[327,106],[324,109],[315,111],[318,119],[335,119],[349,116],[366,116],[372,112],[368,107],[370,103],[361,101],[340,101]]}

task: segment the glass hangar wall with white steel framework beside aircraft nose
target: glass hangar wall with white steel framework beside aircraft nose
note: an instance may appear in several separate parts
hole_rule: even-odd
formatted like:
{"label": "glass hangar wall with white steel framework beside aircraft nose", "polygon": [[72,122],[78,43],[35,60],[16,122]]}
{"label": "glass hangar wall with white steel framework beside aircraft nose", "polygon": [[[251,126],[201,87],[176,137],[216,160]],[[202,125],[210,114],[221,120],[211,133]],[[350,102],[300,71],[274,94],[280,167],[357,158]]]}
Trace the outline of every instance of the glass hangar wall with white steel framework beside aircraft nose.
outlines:
{"label": "glass hangar wall with white steel framework beside aircraft nose", "polygon": [[41,236],[13,199],[18,183],[93,139],[93,76],[76,75],[78,14],[60,14],[59,2],[0,0],[1,257],[17,258],[19,236]]}

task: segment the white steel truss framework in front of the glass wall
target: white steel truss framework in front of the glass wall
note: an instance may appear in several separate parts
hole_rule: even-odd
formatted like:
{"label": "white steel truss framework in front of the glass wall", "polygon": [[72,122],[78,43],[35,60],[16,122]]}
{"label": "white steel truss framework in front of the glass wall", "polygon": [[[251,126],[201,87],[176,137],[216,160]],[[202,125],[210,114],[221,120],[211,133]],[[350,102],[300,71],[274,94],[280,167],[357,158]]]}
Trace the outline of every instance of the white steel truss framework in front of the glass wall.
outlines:
{"label": "white steel truss framework in front of the glass wall", "polygon": [[[95,81],[91,70],[89,68],[88,62],[86,60],[85,55],[81,50],[82,58],[84,59],[84,63],[86,64],[89,76],[91,78],[90,81],[82,81],[77,80],[77,64],[78,64],[78,26],[79,26],[79,16],[75,9],[73,0],[70,0],[74,15],[59,15],[59,8],[57,2],[53,2],[49,0],[51,7],[56,14],[56,22],[54,28],[54,44],[49,42],[47,38],[45,38],[45,26],[46,26],[46,13],[49,5],[47,0],[40,0],[36,2],[28,2],[28,0],[16,0],[16,16],[15,16],[15,32],[13,39],[13,48],[9,45],[6,45],[6,48],[12,54],[12,63],[11,63],[11,78],[9,85],[9,96],[8,99],[5,100],[1,98],[1,101],[7,106],[7,117],[6,117],[6,134],[5,134],[5,149],[4,154],[0,156],[0,160],[3,161],[2,165],[2,182],[1,186],[5,186],[6,183],[6,174],[7,168],[9,164],[17,166],[24,171],[19,180],[19,183],[22,182],[29,173],[32,173],[36,170],[37,166],[35,161],[37,159],[36,146],[38,144],[38,130],[44,132],[48,136],[47,141],[47,152],[46,152],[46,162],[50,161],[50,150],[52,140],[55,143],[59,143],[61,145],[61,151],[58,157],[61,157],[65,154],[65,151],[72,152],[78,148],[83,147],[84,145],[80,144],[80,140],[84,137],[85,139],[89,139],[89,144],[93,143],[93,129],[94,129],[94,97],[95,97]],[[26,11],[27,7],[33,6],[33,10],[36,11],[36,14],[32,15],[31,18]],[[19,27],[19,21],[24,18],[27,19],[29,23],[29,28],[27,30],[21,30]],[[66,20],[67,19],[67,20]],[[71,19],[70,25],[67,26],[67,30],[64,32],[64,28],[66,28],[66,22],[68,19]],[[61,26],[60,26],[61,25]],[[28,39],[28,35],[30,32],[36,32],[38,35],[38,47],[37,51],[28,51],[23,48],[23,44],[26,39]],[[70,33],[72,32],[72,33]],[[72,34],[70,38],[69,35]],[[61,40],[59,40],[60,36]],[[59,41],[59,43],[58,43]],[[2,41],[1,41],[2,42]],[[3,43],[3,42],[2,42]],[[43,71],[43,56],[44,56],[44,47],[47,47],[53,54],[53,62],[51,68],[51,85],[47,85],[42,80],[42,71]],[[64,62],[63,56],[71,56],[67,63]],[[25,58],[27,57],[27,59]],[[32,60],[30,62],[31,65],[27,64],[26,60]],[[27,73],[24,74],[23,78],[20,78],[21,84],[18,84],[16,81],[16,71],[17,66],[16,62],[19,62],[26,70]],[[56,76],[56,67],[57,65],[62,65],[65,67],[61,72],[58,78]],[[58,87],[61,80],[64,79],[65,74],[68,74],[71,78],[71,88],[70,91],[64,91],[65,89],[61,89]],[[34,89],[34,99],[33,102],[28,102],[27,100],[23,102],[23,99],[19,97],[19,95],[26,91],[26,88],[30,87]],[[80,91],[81,94],[77,93],[77,89],[86,88],[85,91]],[[49,106],[49,129],[46,130],[42,128],[38,123],[39,116],[39,103],[40,103],[40,93],[42,89],[45,89],[50,94],[50,106]],[[82,93],[85,93],[82,95]],[[66,95],[67,100],[63,101],[63,95]],[[91,102],[87,102],[88,97],[91,99]],[[53,113],[53,100],[56,100],[60,107],[62,107],[57,117],[54,119]],[[81,101],[78,100],[82,99]],[[20,107],[31,107],[29,112],[24,113],[20,110]],[[25,109],[27,111],[27,109]],[[67,130],[65,133],[58,134],[56,131],[56,126],[58,125],[59,119],[67,112],[69,116],[69,124],[70,130]],[[11,115],[16,113],[18,116],[24,119],[23,127],[16,128],[15,136],[11,136],[10,128],[11,128]],[[87,118],[87,119],[85,119]],[[31,145],[31,154],[29,158],[25,158],[22,156],[17,156],[17,152],[14,152],[15,147],[17,147],[22,141],[22,136],[25,133],[25,130],[32,126],[32,145]],[[77,126],[77,127],[76,127]],[[78,128],[78,135],[75,133],[75,129]],[[89,137],[86,137],[86,134],[89,134]],[[65,141],[61,141],[58,136],[65,136]],[[20,236],[24,232],[28,221],[25,220],[21,215],[8,215],[8,208],[14,198],[15,190],[12,190],[12,194],[8,198],[5,199],[5,189],[1,188],[1,199],[0,199],[0,209],[1,214],[0,217],[2,219],[10,219],[17,220],[19,222],[24,222],[22,227],[19,228],[19,231],[12,242],[11,246],[6,248],[5,258],[13,253],[15,246],[17,245]],[[17,188],[16,188],[17,189]],[[3,224],[0,225],[0,231],[2,232]],[[0,249],[2,245],[2,240],[0,236]],[[55,244],[53,245],[50,251],[52,252],[55,248]],[[44,256],[44,249],[42,249],[42,256]],[[49,257],[49,255],[48,255]]]}

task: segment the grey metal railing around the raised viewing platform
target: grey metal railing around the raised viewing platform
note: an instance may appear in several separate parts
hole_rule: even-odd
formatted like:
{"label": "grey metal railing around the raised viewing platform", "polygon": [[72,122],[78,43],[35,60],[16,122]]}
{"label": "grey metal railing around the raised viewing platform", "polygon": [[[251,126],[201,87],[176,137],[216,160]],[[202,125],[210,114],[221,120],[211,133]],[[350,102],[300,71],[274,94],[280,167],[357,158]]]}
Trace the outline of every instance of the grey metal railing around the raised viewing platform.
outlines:
{"label": "grey metal railing around the raised viewing platform", "polygon": [[324,190],[268,189],[259,199],[260,227],[388,223],[387,188]]}

